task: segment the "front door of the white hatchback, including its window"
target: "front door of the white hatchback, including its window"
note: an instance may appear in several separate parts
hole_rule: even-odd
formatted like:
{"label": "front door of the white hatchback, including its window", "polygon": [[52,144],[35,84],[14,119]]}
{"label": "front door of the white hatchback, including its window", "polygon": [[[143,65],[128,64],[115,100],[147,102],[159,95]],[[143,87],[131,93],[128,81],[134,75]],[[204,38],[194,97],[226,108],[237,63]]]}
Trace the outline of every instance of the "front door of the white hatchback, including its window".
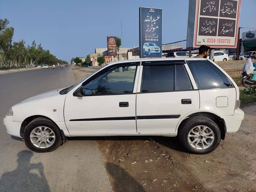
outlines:
{"label": "front door of the white hatchback, including its window", "polygon": [[64,118],[71,136],[136,133],[135,82],[139,65],[121,63],[104,68],[81,84],[86,94],[83,97],[73,96],[75,90],[68,92]]}

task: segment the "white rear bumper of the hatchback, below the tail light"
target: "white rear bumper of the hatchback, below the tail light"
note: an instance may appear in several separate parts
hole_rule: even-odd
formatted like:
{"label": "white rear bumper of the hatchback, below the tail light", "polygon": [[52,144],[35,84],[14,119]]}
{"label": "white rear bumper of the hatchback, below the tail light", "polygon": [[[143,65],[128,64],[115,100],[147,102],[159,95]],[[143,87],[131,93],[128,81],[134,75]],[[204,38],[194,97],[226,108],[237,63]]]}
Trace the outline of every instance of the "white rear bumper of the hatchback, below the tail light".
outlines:
{"label": "white rear bumper of the hatchback, below the tail light", "polygon": [[234,115],[231,116],[221,116],[226,123],[227,133],[237,132],[240,125],[244,119],[244,111],[240,108],[234,111]]}

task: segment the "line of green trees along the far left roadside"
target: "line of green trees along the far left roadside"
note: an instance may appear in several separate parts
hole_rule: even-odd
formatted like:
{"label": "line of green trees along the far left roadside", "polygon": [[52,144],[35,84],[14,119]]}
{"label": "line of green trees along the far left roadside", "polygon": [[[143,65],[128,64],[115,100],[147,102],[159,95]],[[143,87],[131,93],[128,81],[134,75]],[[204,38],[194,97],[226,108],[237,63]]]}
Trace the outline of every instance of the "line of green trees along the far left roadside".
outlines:
{"label": "line of green trees along the far left roadside", "polygon": [[19,42],[12,42],[14,28],[7,27],[9,21],[0,19],[0,67],[25,67],[34,63],[35,65],[43,64],[68,64],[67,61],[59,60],[50,53],[49,50],[43,49],[41,44],[36,46],[33,41],[31,45],[25,45],[22,39]]}

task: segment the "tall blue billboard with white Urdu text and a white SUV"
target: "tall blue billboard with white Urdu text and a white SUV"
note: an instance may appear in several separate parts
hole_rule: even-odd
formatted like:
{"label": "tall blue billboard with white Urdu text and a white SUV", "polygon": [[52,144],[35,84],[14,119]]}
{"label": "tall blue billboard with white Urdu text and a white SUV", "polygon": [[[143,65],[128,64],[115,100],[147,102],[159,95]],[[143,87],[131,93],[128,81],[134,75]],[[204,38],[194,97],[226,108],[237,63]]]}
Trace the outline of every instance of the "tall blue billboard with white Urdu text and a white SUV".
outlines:
{"label": "tall blue billboard with white Urdu text and a white SUV", "polygon": [[140,7],[140,58],[162,57],[163,9]]}

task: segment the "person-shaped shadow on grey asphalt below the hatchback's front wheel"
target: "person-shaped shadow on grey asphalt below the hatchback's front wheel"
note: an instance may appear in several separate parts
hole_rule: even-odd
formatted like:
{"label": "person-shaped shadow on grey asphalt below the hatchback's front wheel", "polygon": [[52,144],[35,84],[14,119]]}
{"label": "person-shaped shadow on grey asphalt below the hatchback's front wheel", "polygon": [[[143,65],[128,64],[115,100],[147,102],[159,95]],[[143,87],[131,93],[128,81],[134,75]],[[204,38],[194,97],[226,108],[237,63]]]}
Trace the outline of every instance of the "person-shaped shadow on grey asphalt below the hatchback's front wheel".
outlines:
{"label": "person-shaped shadow on grey asphalt below the hatchback's front wheel", "polygon": [[2,175],[0,191],[50,191],[43,164],[31,164],[32,156],[33,153],[28,150],[18,153],[18,166],[14,171]]}

